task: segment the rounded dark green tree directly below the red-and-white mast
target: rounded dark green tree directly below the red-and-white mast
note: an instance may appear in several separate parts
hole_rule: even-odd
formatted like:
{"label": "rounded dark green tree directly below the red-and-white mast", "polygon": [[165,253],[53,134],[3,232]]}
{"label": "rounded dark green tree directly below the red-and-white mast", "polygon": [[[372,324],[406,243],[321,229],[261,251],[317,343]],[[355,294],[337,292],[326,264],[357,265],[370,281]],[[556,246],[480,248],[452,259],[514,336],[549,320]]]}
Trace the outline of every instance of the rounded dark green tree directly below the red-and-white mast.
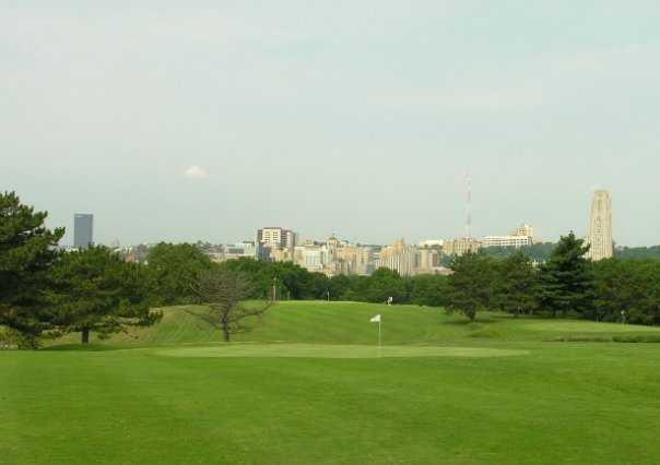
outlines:
{"label": "rounded dark green tree directly below the red-and-white mast", "polygon": [[452,259],[453,273],[449,276],[449,310],[460,311],[473,321],[480,309],[491,305],[493,263],[493,259],[471,252]]}

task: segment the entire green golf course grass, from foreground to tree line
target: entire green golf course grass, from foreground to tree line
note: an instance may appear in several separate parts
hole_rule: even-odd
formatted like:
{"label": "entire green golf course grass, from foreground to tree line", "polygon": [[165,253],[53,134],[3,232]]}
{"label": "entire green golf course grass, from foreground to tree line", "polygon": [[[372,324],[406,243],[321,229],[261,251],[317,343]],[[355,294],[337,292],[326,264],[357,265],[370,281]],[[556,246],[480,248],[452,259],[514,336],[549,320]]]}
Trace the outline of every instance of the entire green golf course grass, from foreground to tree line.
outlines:
{"label": "entire green golf course grass, from foreground to tree line", "polygon": [[658,463],[660,346],[543,342],[656,329],[286,302],[225,345],[203,311],[0,351],[0,462]]}

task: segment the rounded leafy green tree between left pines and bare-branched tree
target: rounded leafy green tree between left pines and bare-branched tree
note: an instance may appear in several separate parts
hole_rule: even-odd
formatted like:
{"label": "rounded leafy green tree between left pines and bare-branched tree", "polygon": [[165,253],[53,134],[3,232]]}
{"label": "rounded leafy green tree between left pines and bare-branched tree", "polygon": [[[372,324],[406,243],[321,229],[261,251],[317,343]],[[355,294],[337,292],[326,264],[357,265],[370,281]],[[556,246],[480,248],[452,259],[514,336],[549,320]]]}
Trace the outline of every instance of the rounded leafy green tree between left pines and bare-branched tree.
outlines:
{"label": "rounded leafy green tree between left pines and bare-branched tree", "polygon": [[164,305],[190,303],[191,283],[212,267],[211,259],[190,243],[161,242],[149,251],[152,296]]}

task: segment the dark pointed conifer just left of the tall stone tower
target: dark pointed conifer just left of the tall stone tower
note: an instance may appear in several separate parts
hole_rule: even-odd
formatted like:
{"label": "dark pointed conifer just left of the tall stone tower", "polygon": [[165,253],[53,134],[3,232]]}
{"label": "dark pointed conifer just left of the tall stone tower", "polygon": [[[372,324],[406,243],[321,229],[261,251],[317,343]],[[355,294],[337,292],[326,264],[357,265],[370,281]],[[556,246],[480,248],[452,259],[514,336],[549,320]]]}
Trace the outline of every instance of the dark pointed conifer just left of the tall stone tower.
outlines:
{"label": "dark pointed conifer just left of the tall stone tower", "polygon": [[571,231],[562,236],[550,260],[541,267],[539,298],[557,317],[569,311],[587,315],[593,308],[593,277],[585,258],[589,246]]}

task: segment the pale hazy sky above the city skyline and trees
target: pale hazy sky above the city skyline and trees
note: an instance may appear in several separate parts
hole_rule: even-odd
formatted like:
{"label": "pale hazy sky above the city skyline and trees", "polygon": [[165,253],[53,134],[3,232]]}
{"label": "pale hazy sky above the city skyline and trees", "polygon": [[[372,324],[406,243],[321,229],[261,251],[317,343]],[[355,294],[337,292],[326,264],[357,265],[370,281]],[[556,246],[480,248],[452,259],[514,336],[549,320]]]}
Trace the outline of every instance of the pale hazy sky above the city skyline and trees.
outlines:
{"label": "pale hazy sky above the city skyline and trees", "polygon": [[[57,5],[55,5],[57,3]],[[0,191],[95,240],[660,243],[660,2],[0,0]]]}

